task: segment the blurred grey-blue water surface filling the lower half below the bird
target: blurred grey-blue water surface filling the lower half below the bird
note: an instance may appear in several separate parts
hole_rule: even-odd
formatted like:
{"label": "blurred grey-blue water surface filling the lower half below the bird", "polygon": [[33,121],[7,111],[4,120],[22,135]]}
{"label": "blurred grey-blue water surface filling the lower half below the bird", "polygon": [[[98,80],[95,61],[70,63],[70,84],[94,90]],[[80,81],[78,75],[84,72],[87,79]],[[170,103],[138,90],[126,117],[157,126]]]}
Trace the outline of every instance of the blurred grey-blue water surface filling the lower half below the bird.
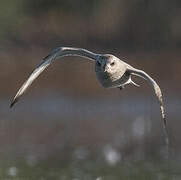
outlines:
{"label": "blurred grey-blue water surface filling the lower half below the bird", "polygon": [[169,126],[167,157],[156,98],[123,97],[117,91],[119,98],[35,94],[13,109],[7,109],[9,100],[1,99],[1,178],[181,178],[175,136],[180,113],[172,111],[180,102],[172,98],[167,104],[168,124],[176,123]]}

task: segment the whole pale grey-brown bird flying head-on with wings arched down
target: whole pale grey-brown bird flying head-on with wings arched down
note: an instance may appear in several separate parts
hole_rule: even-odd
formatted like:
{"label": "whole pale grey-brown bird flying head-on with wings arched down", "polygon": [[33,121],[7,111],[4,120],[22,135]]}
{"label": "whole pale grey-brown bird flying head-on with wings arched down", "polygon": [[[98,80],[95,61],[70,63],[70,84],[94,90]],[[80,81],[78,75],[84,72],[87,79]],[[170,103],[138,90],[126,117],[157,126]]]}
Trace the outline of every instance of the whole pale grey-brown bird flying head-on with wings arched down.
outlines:
{"label": "whole pale grey-brown bird flying head-on with wings arched down", "polygon": [[[96,54],[91,51],[82,48],[74,47],[58,47],[53,50],[48,56],[43,58],[42,62],[38,67],[32,72],[29,78],[24,82],[21,88],[18,90],[13,101],[11,102],[10,107],[19,100],[19,98],[25,93],[28,87],[33,83],[33,81],[55,60],[64,57],[64,56],[80,56],[88,58],[95,61],[95,72],[96,77],[99,83],[104,88],[124,88],[127,84],[137,85],[132,81],[132,75],[139,76],[147,80],[155,91],[158,102],[160,104],[161,116],[163,120],[163,127],[167,135],[166,129],[166,118],[165,118],[165,109],[162,100],[162,92],[158,84],[143,70],[136,69],[119,58],[111,54]],[[166,139],[166,142],[168,138]],[[168,143],[168,142],[167,142]]]}

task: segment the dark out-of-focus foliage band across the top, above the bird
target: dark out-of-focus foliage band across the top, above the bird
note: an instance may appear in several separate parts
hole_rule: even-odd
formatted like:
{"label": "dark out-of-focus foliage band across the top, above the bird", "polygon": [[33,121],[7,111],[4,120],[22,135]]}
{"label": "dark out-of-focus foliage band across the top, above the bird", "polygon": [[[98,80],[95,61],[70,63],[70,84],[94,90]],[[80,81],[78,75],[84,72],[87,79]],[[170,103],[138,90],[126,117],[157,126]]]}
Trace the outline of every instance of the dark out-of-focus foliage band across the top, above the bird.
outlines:
{"label": "dark out-of-focus foliage band across the top, above the bird", "polygon": [[96,40],[97,45],[127,50],[175,49],[181,44],[180,8],[178,0],[2,1],[0,38],[13,36],[23,43],[27,31],[31,37],[46,32],[52,41]]}

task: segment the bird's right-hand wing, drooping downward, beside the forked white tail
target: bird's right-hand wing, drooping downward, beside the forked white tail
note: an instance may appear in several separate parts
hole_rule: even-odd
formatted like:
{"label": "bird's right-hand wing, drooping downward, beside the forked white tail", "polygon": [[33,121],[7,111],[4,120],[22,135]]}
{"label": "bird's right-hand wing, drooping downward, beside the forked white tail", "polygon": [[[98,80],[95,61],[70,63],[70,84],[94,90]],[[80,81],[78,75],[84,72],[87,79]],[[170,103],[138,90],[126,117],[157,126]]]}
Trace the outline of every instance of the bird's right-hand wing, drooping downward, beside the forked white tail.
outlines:
{"label": "bird's right-hand wing, drooping downward, beside the forked white tail", "polygon": [[145,80],[150,82],[151,85],[153,86],[155,94],[156,94],[158,101],[159,101],[159,104],[160,104],[160,110],[161,110],[161,115],[162,115],[162,119],[163,119],[164,132],[166,134],[166,143],[168,144],[169,143],[168,131],[167,131],[167,127],[166,127],[167,121],[166,121],[166,117],[165,117],[165,108],[164,108],[164,103],[163,103],[163,98],[162,98],[162,92],[161,92],[159,85],[147,73],[145,73],[142,70],[128,66],[127,71],[130,72],[130,74],[144,78]]}

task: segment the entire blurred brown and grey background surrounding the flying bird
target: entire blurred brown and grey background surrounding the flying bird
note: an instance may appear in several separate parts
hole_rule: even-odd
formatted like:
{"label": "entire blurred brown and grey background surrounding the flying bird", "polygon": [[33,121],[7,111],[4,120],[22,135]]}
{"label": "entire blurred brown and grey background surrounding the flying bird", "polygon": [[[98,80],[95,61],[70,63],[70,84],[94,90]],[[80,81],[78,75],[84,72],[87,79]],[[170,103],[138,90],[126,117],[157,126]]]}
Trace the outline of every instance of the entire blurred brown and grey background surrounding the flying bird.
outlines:
{"label": "entire blurred brown and grey background surrounding the flying bird", "polygon": [[[181,1],[1,0],[0,177],[180,179]],[[171,140],[149,84],[104,89],[94,62],[52,64],[13,109],[40,60],[58,46],[111,53],[160,85]]]}

